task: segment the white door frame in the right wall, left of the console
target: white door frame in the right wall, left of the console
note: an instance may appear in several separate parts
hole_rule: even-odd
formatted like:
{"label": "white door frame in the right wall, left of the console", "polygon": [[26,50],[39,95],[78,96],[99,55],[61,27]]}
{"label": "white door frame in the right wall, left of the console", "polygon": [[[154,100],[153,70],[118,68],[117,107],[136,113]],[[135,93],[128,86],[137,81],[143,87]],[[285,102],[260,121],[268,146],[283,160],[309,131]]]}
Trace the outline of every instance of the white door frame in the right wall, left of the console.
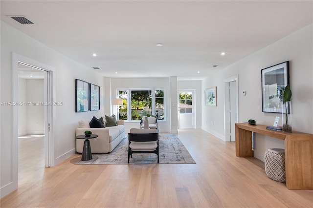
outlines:
{"label": "white door frame in the right wall, left of the console", "polygon": [[229,116],[229,109],[230,109],[230,96],[229,96],[229,83],[236,81],[236,114],[237,114],[237,121],[239,122],[239,90],[238,90],[238,74],[232,77],[229,77],[224,80],[224,132],[225,132],[225,142],[230,142],[230,116]]}

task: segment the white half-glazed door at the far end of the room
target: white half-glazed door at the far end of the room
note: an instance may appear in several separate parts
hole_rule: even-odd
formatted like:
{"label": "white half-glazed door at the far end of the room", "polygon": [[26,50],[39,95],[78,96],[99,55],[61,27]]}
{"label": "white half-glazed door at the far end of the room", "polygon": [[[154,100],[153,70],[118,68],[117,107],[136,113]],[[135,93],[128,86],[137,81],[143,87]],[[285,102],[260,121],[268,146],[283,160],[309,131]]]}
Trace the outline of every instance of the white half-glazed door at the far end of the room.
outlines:
{"label": "white half-glazed door at the far end of the room", "polygon": [[195,128],[195,90],[180,90],[178,106],[178,128]]}

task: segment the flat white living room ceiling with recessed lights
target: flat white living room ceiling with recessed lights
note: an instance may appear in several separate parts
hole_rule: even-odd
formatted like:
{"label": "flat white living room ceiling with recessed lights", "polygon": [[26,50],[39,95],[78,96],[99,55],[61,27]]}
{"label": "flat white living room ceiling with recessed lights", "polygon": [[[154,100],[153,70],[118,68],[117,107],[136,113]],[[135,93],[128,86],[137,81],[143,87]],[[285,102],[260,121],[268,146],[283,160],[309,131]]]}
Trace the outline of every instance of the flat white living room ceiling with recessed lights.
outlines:
{"label": "flat white living room ceiling with recessed lights", "polygon": [[312,0],[1,0],[0,7],[1,21],[107,77],[201,80],[313,22]]}

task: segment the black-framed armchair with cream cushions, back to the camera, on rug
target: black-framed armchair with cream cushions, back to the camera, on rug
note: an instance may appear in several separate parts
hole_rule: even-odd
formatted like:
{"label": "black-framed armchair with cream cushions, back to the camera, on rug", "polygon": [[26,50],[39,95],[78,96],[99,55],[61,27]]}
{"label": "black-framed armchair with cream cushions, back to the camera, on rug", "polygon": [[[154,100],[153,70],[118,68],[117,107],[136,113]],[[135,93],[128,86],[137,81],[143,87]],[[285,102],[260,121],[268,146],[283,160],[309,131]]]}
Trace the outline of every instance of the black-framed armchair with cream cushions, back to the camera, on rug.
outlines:
{"label": "black-framed armchair with cream cushions, back to the camera, on rug", "polygon": [[155,153],[158,163],[158,130],[131,128],[128,133],[128,163],[134,153]]}

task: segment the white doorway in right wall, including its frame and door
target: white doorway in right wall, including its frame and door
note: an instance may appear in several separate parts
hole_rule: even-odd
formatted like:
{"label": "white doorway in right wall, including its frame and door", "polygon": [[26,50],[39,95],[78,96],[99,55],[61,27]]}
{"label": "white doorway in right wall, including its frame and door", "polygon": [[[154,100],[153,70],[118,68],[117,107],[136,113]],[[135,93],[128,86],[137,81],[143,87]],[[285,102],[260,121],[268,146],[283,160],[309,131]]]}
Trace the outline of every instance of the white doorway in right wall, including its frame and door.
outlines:
{"label": "white doorway in right wall, including its frame and door", "polygon": [[235,142],[235,123],[239,121],[238,75],[224,80],[224,95],[225,141]]}

